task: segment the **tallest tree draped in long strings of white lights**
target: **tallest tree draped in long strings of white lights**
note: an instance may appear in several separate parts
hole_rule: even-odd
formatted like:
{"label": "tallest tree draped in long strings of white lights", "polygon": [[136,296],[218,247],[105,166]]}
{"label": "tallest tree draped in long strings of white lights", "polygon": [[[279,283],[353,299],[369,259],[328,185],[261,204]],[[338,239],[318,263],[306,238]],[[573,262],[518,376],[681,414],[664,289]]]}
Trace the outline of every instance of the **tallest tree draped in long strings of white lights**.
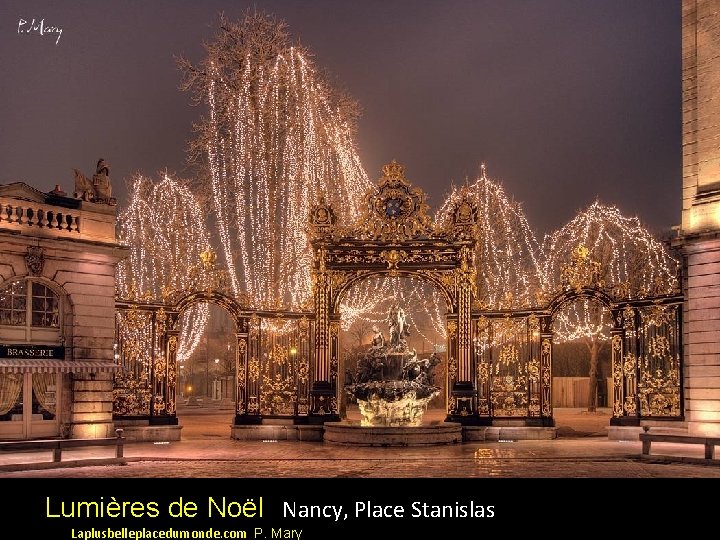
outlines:
{"label": "tallest tree draped in long strings of white lights", "polygon": [[233,293],[296,309],[311,291],[310,208],[320,198],[358,215],[370,187],[353,142],[357,108],[321,77],[286,25],[248,11],[221,17],[207,57],[180,60],[183,88],[208,107],[193,148]]}

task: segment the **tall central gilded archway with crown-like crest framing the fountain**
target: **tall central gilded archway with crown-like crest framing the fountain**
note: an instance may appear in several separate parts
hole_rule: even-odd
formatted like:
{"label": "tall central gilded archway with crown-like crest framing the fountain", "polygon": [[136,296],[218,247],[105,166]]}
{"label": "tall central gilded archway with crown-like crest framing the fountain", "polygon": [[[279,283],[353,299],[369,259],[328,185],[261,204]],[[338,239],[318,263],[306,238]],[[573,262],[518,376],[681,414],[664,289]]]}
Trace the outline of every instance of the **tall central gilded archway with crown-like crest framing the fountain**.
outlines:
{"label": "tall central gilded archway with crown-like crest framing the fountain", "polygon": [[448,416],[473,412],[472,302],[475,297],[477,207],[463,197],[448,225],[428,215],[425,193],[407,181],[393,161],[365,196],[360,218],[348,225],[321,199],[310,214],[314,253],[315,378],[311,414],[338,416],[339,299],[352,284],[370,276],[418,277],[433,283],[446,299]]}

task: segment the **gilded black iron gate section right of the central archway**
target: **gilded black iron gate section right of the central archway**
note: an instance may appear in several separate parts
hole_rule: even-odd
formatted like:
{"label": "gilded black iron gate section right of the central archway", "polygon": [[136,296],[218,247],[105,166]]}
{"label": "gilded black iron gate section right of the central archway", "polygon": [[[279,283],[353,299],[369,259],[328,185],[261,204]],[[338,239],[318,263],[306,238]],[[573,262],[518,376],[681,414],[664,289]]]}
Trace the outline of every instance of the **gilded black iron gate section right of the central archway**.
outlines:
{"label": "gilded black iron gate section right of the central archway", "polygon": [[481,423],[524,418],[526,425],[553,424],[552,317],[562,305],[586,297],[602,301],[612,314],[611,424],[682,419],[682,296],[623,302],[583,289],[537,312],[473,315]]}

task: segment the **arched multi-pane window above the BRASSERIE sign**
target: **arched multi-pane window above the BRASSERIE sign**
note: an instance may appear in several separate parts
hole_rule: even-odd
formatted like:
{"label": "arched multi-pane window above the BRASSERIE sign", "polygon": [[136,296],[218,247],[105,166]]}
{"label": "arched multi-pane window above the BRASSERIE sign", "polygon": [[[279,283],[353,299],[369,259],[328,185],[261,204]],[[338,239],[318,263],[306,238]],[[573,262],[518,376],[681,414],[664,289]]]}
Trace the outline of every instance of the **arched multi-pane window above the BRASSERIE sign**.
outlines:
{"label": "arched multi-pane window above the BRASSERIE sign", "polygon": [[57,342],[61,336],[61,298],[33,279],[0,288],[0,340]]}

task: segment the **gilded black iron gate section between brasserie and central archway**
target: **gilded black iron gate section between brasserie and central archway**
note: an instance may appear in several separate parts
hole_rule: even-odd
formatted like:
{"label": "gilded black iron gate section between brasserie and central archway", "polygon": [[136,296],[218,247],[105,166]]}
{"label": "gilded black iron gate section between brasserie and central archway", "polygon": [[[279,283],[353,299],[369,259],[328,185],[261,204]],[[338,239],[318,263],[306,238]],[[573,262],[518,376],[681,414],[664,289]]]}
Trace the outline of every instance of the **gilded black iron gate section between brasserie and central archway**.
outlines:
{"label": "gilded black iron gate section between brasserie and central archway", "polygon": [[236,424],[308,415],[315,324],[312,314],[253,312],[219,292],[173,304],[117,303],[113,386],[116,420],[177,424],[180,315],[198,302],[228,311],[236,326]]}

